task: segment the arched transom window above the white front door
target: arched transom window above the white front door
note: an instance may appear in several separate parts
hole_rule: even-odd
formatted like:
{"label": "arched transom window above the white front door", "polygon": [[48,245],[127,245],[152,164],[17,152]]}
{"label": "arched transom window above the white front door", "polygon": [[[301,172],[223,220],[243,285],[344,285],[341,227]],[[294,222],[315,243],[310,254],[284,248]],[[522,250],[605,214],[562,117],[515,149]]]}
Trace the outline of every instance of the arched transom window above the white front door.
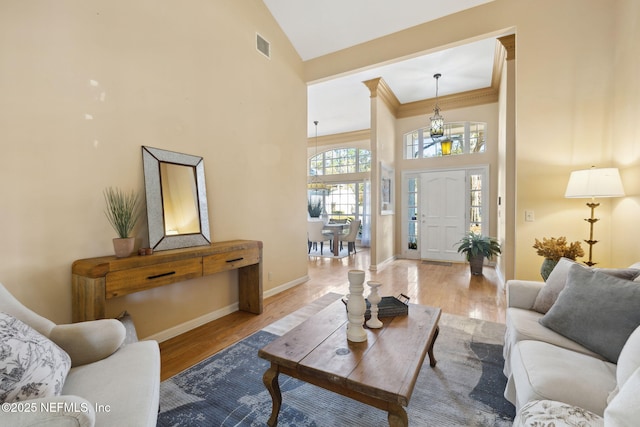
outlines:
{"label": "arched transom window above the white front door", "polygon": [[404,134],[404,158],[423,159],[449,155],[483,153],[486,148],[483,122],[453,122],[444,125],[444,136],[431,138],[429,128]]}

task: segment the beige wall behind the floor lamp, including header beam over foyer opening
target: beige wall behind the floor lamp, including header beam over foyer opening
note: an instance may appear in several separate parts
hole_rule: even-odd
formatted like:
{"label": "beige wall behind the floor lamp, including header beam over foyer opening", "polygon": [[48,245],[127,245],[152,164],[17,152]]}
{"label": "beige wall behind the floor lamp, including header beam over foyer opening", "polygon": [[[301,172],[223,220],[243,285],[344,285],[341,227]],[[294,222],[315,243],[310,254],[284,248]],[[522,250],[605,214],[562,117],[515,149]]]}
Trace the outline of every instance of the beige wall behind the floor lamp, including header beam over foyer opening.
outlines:
{"label": "beige wall behind the floor lamp, including header beam over foyer opening", "polygon": [[[571,19],[577,10],[580,19]],[[632,129],[640,98],[637,16],[638,6],[631,0],[541,0],[535,6],[495,0],[308,61],[305,75],[318,81],[515,32],[516,185],[515,199],[509,201],[515,217],[513,275],[539,279],[542,259],[531,247],[535,238],[588,238],[588,224],[582,221],[588,216],[586,201],[564,198],[569,174],[593,164],[622,166],[622,159],[629,196],[603,200],[598,208],[596,237],[601,242],[594,260],[601,266],[627,264],[640,259],[640,231],[630,224],[639,209],[637,190],[630,192],[638,185],[640,168],[640,141]],[[620,138],[614,140],[614,135]],[[626,150],[619,151],[618,144]],[[534,222],[524,221],[525,210],[534,211]]]}

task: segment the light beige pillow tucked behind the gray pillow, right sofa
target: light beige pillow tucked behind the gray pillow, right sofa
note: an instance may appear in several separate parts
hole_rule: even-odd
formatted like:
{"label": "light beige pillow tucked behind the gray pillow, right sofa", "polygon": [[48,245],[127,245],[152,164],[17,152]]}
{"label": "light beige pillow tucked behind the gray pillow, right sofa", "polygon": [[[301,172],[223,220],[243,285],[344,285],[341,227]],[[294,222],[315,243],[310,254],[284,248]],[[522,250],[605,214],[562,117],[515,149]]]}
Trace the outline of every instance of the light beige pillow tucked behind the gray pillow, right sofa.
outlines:
{"label": "light beige pillow tucked behind the gray pillow, right sofa", "polygon": [[[558,299],[558,295],[564,289],[565,284],[567,283],[567,275],[569,274],[569,269],[573,265],[579,265],[582,268],[589,269],[589,267],[578,264],[575,261],[572,261],[568,258],[560,258],[558,264],[553,268],[549,277],[547,277],[547,281],[540,292],[538,292],[538,296],[536,297],[535,302],[533,303],[533,309],[538,313],[545,314],[553,303]],[[640,269],[637,268],[592,268],[595,271],[599,271],[601,273],[608,274],[610,276],[618,277],[620,279],[625,280],[634,280],[640,277]]]}

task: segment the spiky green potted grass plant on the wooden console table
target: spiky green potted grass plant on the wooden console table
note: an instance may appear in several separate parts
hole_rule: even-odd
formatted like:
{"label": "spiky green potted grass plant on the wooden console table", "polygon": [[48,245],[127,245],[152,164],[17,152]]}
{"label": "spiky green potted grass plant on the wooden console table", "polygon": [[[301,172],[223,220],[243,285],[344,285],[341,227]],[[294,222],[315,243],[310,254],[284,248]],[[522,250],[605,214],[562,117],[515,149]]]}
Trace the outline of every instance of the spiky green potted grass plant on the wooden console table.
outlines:
{"label": "spiky green potted grass plant on the wooden console table", "polygon": [[116,257],[128,257],[135,244],[131,233],[140,218],[140,197],[133,190],[127,193],[119,188],[109,187],[104,190],[104,200],[107,204],[104,214],[118,233],[118,237],[113,239]]}

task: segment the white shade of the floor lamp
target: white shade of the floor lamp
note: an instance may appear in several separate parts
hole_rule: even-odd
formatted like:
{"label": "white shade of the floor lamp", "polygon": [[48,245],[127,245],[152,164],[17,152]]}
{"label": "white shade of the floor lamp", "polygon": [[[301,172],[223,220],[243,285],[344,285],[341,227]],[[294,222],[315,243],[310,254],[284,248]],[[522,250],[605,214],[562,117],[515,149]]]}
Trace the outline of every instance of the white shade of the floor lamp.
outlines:
{"label": "white shade of the floor lamp", "polygon": [[591,168],[571,172],[564,197],[623,197],[618,168]]}

